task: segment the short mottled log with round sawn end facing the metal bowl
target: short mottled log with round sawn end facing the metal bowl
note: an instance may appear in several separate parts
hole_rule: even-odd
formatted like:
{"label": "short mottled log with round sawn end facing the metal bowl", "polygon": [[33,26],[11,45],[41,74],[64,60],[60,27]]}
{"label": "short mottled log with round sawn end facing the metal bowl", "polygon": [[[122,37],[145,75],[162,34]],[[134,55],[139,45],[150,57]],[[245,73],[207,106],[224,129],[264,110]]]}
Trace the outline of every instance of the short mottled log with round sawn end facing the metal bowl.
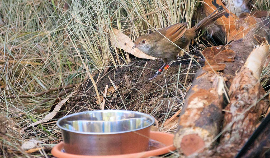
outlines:
{"label": "short mottled log with round sawn end facing the metal bowl", "polygon": [[[201,84],[203,82],[203,84]],[[218,134],[222,116],[223,79],[200,70],[187,93],[174,146],[185,155],[202,152]]]}

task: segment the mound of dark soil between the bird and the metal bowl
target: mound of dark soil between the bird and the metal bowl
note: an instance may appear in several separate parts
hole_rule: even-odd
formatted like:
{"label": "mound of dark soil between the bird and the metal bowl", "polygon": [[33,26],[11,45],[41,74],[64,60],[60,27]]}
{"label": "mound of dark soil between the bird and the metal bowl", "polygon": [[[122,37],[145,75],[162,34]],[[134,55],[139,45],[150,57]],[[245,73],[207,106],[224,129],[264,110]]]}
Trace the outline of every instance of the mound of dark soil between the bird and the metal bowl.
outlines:
{"label": "mound of dark soil between the bird and the metal bowl", "polygon": [[[200,56],[200,52],[195,51],[191,53],[191,55]],[[104,109],[127,109],[148,111],[148,113],[151,113],[157,104],[164,104],[164,106],[161,105],[161,109],[157,109],[157,111],[158,113],[166,112],[164,110],[167,110],[167,106],[171,101],[176,100],[181,102],[183,100],[179,90],[181,89],[185,94],[183,85],[186,76],[185,88],[192,83],[194,75],[199,69],[199,66],[193,61],[189,73],[186,75],[190,64],[190,57],[184,55],[179,58],[181,61],[173,62],[170,68],[164,71],[165,74],[160,74],[157,78],[148,81],[163,65],[162,59],[148,60],[135,58],[133,56],[131,60],[129,65],[111,66],[104,76],[102,76],[103,73],[101,73],[99,78],[98,74],[93,76],[100,97],[103,96],[102,93],[106,85],[109,87],[113,86],[109,78],[112,79],[115,86],[119,86],[116,92],[107,94]],[[178,92],[177,96],[175,96],[180,63]],[[100,106],[97,105],[96,92],[90,79],[85,80],[76,90],[79,91],[66,102],[65,106],[61,109],[62,112],[59,112],[56,116],[57,118],[63,117],[67,112],[77,113],[89,109],[100,110]]]}

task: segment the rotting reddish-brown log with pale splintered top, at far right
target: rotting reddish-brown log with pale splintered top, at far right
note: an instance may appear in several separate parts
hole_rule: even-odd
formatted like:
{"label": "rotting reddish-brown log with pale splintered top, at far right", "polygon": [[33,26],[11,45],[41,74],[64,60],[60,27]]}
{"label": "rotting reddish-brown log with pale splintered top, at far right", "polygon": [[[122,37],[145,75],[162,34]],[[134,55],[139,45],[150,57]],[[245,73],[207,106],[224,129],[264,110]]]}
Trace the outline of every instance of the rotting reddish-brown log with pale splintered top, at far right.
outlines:
{"label": "rotting reddish-brown log with pale splintered top, at far right", "polygon": [[261,100],[266,95],[258,75],[268,55],[269,47],[266,45],[261,45],[251,52],[232,81],[229,91],[230,104],[224,110],[220,143],[215,149],[196,157],[234,157],[257,128],[259,118],[266,112],[269,104],[269,101]]}

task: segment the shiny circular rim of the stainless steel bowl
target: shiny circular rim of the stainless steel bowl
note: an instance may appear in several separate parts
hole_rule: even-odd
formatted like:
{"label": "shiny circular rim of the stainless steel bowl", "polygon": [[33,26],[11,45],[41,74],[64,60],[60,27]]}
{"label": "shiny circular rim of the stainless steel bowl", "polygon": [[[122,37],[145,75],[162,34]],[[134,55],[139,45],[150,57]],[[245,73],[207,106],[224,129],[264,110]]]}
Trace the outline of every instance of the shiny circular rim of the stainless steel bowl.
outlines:
{"label": "shiny circular rim of the stainless steel bowl", "polygon": [[[137,114],[140,114],[140,115],[143,115],[147,118],[150,118],[152,120],[152,122],[146,126],[146,127],[142,127],[142,128],[137,128],[137,129],[133,129],[133,130],[127,130],[127,131],[120,131],[120,132],[79,132],[79,131],[74,131],[74,130],[70,130],[70,129],[66,129],[66,128],[63,128],[62,126],[59,125],[59,122],[66,119],[66,118],[69,118],[69,117],[72,117],[72,116],[75,116],[75,115],[80,115],[80,114],[83,114],[83,113],[93,113],[93,112],[110,112],[110,111],[115,111],[115,112],[131,112],[131,113],[137,113]],[[78,134],[89,134],[89,135],[107,135],[107,134],[121,134],[121,133],[127,133],[127,132],[133,132],[133,131],[139,131],[141,129],[144,129],[144,128],[147,128],[147,127],[150,127],[151,125],[153,125],[155,122],[155,118],[151,115],[148,115],[148,114],[144,114],[144,113],[141,113],[141,112],[137,112],[137,111],[131,111],[131,110],[93,110],[93,111],[84,111],[84,112],[80,112],[80,113],[75,113],[75,114],[70,114],[70,115],[67,115],[67,116],[64,116],[62,118],[60,118],[57,122],[56,122],[56,125],[62,129],[62,130],[65,130],[65,131],[69,131],[69,132],[73,132],[73,133],[78,133]]]}

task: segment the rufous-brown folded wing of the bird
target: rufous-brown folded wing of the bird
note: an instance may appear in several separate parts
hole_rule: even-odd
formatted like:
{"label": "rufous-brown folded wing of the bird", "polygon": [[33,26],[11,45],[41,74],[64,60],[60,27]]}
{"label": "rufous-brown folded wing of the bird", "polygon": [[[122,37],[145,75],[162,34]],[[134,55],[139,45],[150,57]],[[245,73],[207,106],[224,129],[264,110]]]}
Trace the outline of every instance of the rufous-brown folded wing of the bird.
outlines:
{"label": "rufous-brown folded wing of the bird", "polygon": [[187,23],[177,23],[170,27],[161,29],[159,32],[172,42],[175,42],[184,35],[185,31],[187,30],[186,26]]}

